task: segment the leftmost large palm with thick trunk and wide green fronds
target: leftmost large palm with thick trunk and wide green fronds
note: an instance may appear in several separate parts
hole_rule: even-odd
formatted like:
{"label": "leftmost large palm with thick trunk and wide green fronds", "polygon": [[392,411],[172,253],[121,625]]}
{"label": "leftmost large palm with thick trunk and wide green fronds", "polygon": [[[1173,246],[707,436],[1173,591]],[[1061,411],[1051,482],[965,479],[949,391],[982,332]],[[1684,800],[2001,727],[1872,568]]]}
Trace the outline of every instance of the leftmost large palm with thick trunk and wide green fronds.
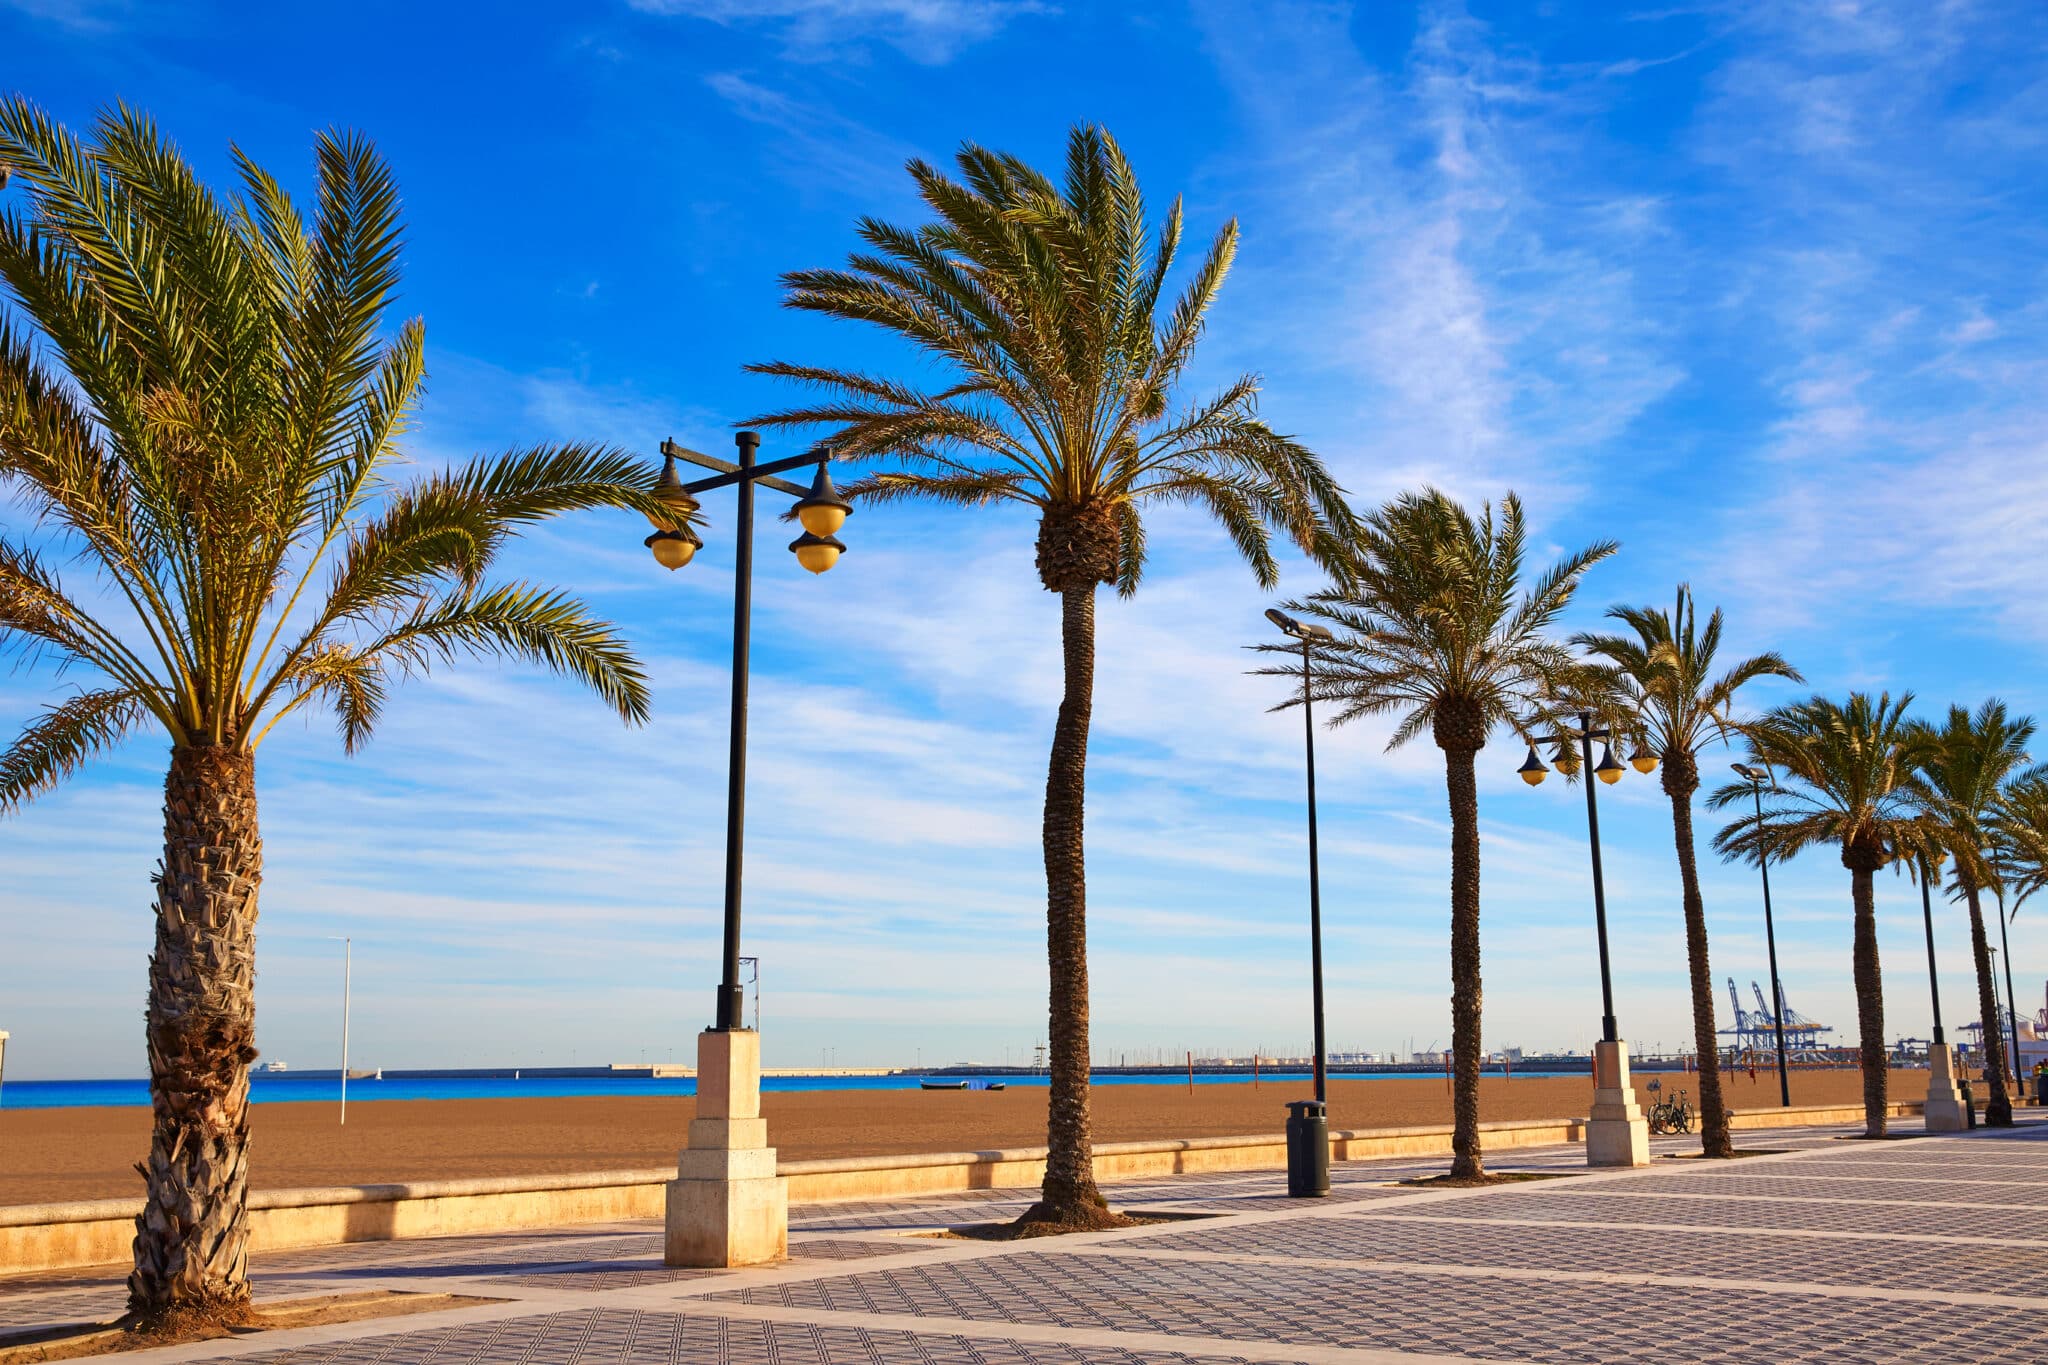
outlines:
{"label": "leftmost large palm with thick trunk and wide green fronds", "polygon": [[[248,1310],[262,739],[324,706],[354,751],[397,677],[455,655],[535,661],[647,714],[608,624],[485,579],[555,512],[659,516],[647,473],[563,446],[393,489],[424,372],[418,319],[381,334],[397,186],[367,141],[324,135],[307,223],[236,162],[223,199],[129,108],[84,141],[0,102],[0,164],[29,192],[0,215],[0,483],[27,512],[0,538],[0,647],[94,677],[0,755],[0,812],[133,733],[170,739],[129,1277],[143,1322]],[[57,575],[59,551],[92,567],[104,608]]]}

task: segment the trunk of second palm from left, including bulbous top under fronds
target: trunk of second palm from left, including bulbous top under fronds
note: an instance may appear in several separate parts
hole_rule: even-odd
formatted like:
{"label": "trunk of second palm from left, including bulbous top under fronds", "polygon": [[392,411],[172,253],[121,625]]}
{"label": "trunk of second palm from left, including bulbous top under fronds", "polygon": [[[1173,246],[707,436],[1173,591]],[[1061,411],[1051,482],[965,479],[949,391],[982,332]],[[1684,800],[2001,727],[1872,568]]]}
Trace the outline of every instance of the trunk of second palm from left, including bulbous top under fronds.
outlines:
{"label": "trunk of second palm from left, including bulbous top under fronds", "polygon": [[1106,508],[1049,510],[1038,526],[1038,577],[1059,593],[1065,694],[1044,776],[1044,935],[1051,990],[1047,1162],[1026,1224],[1100,1228],[1122,1220],[1096,1189],[1087,1132],[1087,726],[1096,698],[1096,585],[1114,581],[1116,518]]}

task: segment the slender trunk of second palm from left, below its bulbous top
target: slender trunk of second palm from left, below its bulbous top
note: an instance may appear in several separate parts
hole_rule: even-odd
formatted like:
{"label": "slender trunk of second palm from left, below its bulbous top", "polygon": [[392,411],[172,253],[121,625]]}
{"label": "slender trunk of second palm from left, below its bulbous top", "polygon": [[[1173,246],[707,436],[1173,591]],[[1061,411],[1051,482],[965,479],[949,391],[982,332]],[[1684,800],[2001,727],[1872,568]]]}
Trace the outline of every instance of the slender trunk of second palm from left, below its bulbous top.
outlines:
{"label": "slender trunk of second palm from left, below its bulbous top", "polygon": [[1067,692],[1044,778],[1044,931],[1051,968],[1051,1095],[1044,1185],[1020,1222],[1104,1226],[1087,1134],[1087,870],[1081,855],[1087,794],[1087,720],[1096,692],[1096,585],[1061,591]]}

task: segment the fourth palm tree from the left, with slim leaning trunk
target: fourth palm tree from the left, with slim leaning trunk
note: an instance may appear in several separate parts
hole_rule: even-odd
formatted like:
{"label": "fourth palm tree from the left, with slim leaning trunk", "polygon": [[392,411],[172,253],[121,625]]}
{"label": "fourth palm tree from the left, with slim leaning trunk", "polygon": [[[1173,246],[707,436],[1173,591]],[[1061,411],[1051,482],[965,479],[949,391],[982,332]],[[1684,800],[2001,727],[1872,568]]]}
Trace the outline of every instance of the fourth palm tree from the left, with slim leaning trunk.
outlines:
{"label": "fourth palm tree from the left, with slim leaning trunk", "polygon": [[1706,956],[1706,900],[1692,837],[1692,794],[1700,790],[1700,745],[1726,741],[1735,692],[1757,677],[1798,671],[1776,653],[1743,659],[1714,675],[1720,651],[1720,608],[1698,628],[1692,587],[1679,583],[1671,612],[1653,606],[1618,606],[1608,616],[1634,634],[1575,636],[1575,645],[1606,659],[1634,704],[1642,743],[1663,761],[1663,790],[1671,798],[1671,837],[1686,909],[1686,964],[1692,974],[1692,1042],[1700,1056],[1700,1148],[1706,1156],[1735,1156],[1729,1105],[1720,1095],[1720,1036],[1714,1031],[1714,972]]}

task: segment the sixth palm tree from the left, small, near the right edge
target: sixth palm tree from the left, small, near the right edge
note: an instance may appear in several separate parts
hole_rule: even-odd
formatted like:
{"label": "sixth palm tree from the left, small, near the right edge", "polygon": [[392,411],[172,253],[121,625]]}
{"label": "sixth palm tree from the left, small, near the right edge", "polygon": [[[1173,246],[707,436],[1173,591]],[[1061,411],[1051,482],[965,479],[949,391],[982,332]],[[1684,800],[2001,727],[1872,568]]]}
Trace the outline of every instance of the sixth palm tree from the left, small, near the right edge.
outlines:
{"label": "sixth palm tree from the left, small, near the right edge", "polygon": [[2013,1097],[2005,1085],[2005,1029],[1999,1021],[1999,990],[1991,976],[1982,896],[1987,890],[2001,894],[2005,890],[1999,833],[2003,827],[2011,837],[2019,829],[2005,810],[2005,796],[2009,788],[2040,776],[2028,772],[2032,739],[2034,718],[2007,716],[2005,702],[1997,698],[1978,706],[1976,714],[1964,706],[1950,706],[1939,731],[1921,726],[1925,814],[1935,827],[1942,849],[1956,860],[1950,888],[1970,907],[1976,1009],[1985,1025],[1985,1081],[1991,1085],[1985,1121],[1993,1128],[2013,1121]]}

